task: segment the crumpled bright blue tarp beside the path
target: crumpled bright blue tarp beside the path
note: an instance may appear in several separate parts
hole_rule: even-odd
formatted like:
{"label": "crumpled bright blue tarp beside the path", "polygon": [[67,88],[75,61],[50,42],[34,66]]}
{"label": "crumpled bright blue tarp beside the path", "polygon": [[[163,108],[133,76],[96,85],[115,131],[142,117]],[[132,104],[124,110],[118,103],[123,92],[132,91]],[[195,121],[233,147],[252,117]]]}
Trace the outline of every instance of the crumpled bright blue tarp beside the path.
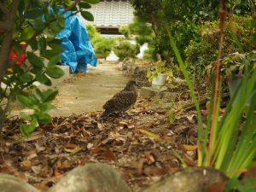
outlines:
{"label": "crumpled bright blue tarp beside the path", "polygon": [[[64,10],[59,9],[60,12]],[[71,14],[72,12],[68,11],[64,16],[67,18]],[[65,50],[61,53],[62,64],[70,66],[72,73],[76,70],[88,72],[87,64],[96,67],[97,59],[84,21],[80,15],[73,15],[67,18],[65,24],[65,28],[56,37],[61,38],[61,47]]]}

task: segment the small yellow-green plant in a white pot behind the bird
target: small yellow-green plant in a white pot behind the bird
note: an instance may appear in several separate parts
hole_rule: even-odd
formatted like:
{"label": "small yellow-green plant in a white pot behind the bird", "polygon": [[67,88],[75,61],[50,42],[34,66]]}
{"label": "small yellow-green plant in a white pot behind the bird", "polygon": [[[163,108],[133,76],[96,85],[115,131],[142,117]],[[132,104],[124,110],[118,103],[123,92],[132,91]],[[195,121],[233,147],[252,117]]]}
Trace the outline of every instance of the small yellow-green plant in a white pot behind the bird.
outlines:
{"label": "small yellow-green plant in a white pot behind the bird", "polygon": [[165,61],[157,61],[153,67],[148,68],[147,78],[152,82],[154,90],[160,90],[166,84],[166,79],[172,82],[172,68],[168,67]]}

